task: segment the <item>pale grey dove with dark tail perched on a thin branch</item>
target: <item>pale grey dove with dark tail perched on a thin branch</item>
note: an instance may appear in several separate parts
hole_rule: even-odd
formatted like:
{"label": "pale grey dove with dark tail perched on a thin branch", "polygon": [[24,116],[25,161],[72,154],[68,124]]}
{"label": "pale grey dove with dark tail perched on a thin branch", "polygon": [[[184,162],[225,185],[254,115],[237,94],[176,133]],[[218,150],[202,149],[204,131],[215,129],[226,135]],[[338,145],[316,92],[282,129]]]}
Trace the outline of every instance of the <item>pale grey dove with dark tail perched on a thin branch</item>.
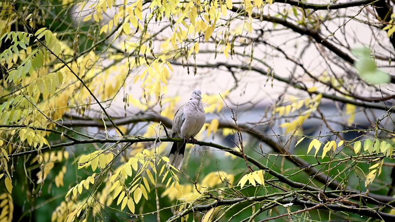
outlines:
{"label": "pale grey dove with dark tail perched on a thin branch", "polygon": [[[171,137],[184,139],[184,143],[173,143],[169,153],[170,164],[181,169],[185,145],[199,133],[206,121],[200,90],[194,90],[188,102],[177,109],[174,115]],[[186,142],[186,143],[185,143]]]}

